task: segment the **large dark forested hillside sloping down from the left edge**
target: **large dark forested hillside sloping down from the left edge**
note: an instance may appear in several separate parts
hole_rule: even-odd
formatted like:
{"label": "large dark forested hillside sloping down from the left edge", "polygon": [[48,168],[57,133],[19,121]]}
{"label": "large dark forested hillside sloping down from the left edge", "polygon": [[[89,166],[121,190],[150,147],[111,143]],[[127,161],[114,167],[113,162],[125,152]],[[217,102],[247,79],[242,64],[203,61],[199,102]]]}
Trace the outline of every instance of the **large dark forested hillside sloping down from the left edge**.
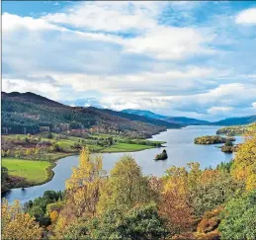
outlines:
{"label": "large dark forested hillside sloping down from the left edge", "polygon": [[70,107],[34,93],[2,92],[2,132],[95,128],[98,132],[149,137],[181,124],[93,107]]}

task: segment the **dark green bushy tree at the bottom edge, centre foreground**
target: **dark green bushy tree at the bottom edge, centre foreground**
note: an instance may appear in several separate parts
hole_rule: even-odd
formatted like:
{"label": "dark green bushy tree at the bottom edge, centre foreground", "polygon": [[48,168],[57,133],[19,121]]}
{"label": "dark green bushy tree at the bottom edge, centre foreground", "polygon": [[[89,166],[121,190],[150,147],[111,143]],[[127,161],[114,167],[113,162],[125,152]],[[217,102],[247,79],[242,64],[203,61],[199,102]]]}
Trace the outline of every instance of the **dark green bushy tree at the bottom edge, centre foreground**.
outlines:
{"label": "dark green bushy tree at the bottom edge, centre foreground", "polygon": [[168,235],[154,203],[125,210],[116,205],[98,218],[93,239],[163,239]]}

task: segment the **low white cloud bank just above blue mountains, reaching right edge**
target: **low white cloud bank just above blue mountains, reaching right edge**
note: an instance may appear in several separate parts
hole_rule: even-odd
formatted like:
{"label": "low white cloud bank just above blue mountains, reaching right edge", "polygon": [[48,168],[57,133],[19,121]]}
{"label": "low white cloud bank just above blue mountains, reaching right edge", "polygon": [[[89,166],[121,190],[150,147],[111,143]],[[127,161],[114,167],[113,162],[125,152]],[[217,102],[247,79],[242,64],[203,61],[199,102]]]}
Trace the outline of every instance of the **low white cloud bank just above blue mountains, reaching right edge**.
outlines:
{"label": "low white cloud bank just above blue mountains, reaching right edge", "polygon": [[[250,84],[220,85],[205,93],[179,96],[132,96],[105,97],[105,108],[123,110],[128,104],[134,109],[151,110],[159,114],[173,116],[173,113],[186,113],[186,116],[201,116],[209,120],[225,116],[255,115],[256,88]],[[252,108],[253,107],[253,108]]]}

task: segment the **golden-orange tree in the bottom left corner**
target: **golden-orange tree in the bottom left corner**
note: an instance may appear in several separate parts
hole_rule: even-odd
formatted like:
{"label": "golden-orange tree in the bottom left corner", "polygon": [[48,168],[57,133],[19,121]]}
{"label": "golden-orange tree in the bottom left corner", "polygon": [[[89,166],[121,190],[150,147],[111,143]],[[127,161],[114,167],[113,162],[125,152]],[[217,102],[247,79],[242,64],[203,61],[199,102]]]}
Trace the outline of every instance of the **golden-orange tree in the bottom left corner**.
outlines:
{"label": "golden-orange tree in the bottom left corner", "polygon": [[41,239],[42,229],[28,213],[24,213],[18,200],[12,205],[2,200],[2,239]]}

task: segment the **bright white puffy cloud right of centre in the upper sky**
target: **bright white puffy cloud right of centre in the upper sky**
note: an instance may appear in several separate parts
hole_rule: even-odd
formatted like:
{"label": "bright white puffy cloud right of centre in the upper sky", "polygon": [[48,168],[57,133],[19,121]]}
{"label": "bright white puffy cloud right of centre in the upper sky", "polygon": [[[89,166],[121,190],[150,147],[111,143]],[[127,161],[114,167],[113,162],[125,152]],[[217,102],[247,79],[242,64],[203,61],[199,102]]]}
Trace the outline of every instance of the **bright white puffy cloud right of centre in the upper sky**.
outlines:
{"label": "bright white puffy cloud right of centre in the upper sky", "polygon": [[124,42],[126,51],[143,53],[158,59],[182,59],[195,54],[213,54],[204,46],[213,40],[193,28],[158,26],[144,36]]}

